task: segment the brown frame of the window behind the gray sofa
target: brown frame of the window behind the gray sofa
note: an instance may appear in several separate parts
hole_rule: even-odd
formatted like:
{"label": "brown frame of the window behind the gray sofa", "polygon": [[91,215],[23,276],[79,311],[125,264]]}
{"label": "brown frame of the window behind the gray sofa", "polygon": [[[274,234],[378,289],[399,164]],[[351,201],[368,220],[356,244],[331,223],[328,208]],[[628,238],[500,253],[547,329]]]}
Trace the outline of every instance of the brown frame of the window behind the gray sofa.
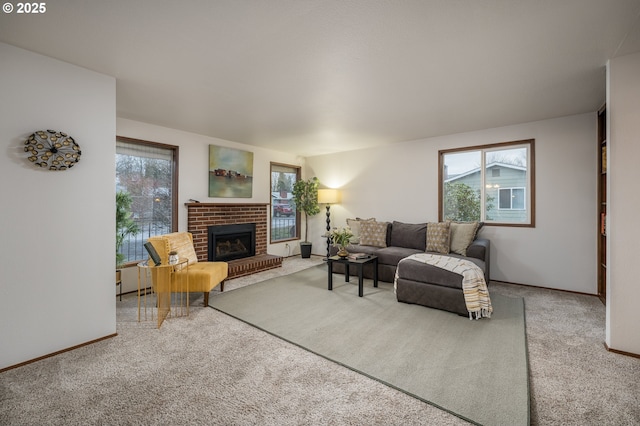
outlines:
{"label": "brown frame of the window behind the gray sofa", "polygon": [[[523,187],[525,192],[524,197],[524,210],[528,212],[529,221],[526,223],[511,223],[511,222],[496,222],[485,220],[485,177],[486,177],[486,153],[490,151],[499,151],[502,149],[517,148],[519,146],[526,147],[527,152],[527,183],[528,187]],[[443,149],[438,151],[438,221],[444,220],[444,160],[447,154],[473,152],[479,151],[481,158],[480,165],[480,199],[482,202],[480,221],[484,222],[485,226],[505,226],[505,227],[520,227],[520,228],[535,228],[536,226],[536,209],[535,209],[535,139],[524,139],[510,142],[499,142],[494,144],[476,145],[470,147]],[[515,187],[513,187],[515,188]],[[522,187],[519,187],[522,188]],[[498,200],[499,206],[499,200]],[[528,206],[528,207],[527,207]],[[502,209],[504,210],[504,209]],[[511,209],[513,210],[513,209]]]}

